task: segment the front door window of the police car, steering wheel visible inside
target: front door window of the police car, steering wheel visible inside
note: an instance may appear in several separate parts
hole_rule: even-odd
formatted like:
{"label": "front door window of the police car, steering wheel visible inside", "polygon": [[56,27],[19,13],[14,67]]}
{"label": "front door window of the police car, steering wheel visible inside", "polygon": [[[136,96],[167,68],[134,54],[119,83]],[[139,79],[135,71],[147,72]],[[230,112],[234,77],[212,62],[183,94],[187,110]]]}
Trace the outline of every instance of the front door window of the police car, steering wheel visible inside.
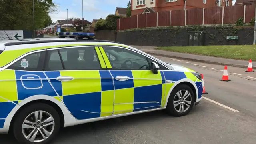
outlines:
{"label": "front door window of the police car, steering wheel visible inside", "polygon": [[103,47],[112,69],[116,70],[150,70],[146,56],[118,47]]}

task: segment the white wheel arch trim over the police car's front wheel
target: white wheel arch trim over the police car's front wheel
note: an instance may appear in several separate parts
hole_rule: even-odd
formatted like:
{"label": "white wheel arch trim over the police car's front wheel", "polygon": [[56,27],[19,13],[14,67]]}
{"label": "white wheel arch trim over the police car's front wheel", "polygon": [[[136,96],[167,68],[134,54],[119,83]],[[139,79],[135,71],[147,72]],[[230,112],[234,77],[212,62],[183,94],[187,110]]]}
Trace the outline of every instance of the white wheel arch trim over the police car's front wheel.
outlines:
{"label": "white wheel arch trim over the police car's front wheel", "polygon": [[181,79],[181,80],[178,80],[174,83],[174,85],[172,86],[172,88],[169,90],[168,94],[166,95],[167,98],[166,98],[166,102],[164,104],[164,107],[167,106],[167,103],[168,103],[168,99],[170,97],[170,94],[172,92],[172,90],[174,88],[176,88],[176,86],[178,85],[181,85],[181,84],[185,84],[187,86],[189,86],[192,90],[193,90],[193,93],[194,93],[194,97],[195,97],[195,102],[197,100],[197,97],[198,97],[198,89],[197,89],[197,86],[195,84],[195,82],[193,82],[192,80],[188,79],[188,78],[184,78],[184,79]]}

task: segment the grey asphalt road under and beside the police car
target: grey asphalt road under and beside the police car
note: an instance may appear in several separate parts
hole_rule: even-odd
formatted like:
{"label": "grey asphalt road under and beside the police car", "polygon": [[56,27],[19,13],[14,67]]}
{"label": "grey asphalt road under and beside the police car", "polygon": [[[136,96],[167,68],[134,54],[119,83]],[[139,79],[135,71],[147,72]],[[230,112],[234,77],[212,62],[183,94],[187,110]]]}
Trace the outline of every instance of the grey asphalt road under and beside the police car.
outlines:
{"label": "grey asphalt road under and beside the police car", "polygon": [[[255,144],[256,81],[247,79],[256,77],[254,73],[228,67],[242,76],[230,72],[231,81],[222,82],[224,66],[158,58],[203,73],[209,93],[205,97],[239,112],[202,99],[184,117],[168,116],[161,110],[64,128],[53,144]],[[11,135],[0,135],[0,141],[16,144]]]}

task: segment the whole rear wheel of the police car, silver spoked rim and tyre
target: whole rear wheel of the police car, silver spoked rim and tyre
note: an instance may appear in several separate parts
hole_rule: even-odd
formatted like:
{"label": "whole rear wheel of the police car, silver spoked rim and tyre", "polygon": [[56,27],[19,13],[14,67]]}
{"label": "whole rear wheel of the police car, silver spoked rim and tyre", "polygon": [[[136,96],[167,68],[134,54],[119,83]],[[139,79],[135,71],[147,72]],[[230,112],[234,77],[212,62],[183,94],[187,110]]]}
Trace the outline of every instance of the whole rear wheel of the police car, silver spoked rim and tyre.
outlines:
{"label": "whole rear wheel of the police car, silver spoked rim and tyre", "polygon": [[22,109],[13,123],[13,133],[22,144],[48,144],[58,134],[60,116],[50,105],[36,103]]}

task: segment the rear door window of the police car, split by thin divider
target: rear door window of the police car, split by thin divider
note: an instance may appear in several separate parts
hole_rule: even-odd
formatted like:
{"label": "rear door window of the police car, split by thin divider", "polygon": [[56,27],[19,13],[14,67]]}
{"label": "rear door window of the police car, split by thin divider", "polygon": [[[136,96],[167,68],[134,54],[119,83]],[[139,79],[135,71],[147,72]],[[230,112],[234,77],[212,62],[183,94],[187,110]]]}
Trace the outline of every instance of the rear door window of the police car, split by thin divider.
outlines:
{"label": "rear door window of the police car, split by thin divider", "polygon": [[94,47],[63,48],[48,52],[46,70],[99,70]]}

